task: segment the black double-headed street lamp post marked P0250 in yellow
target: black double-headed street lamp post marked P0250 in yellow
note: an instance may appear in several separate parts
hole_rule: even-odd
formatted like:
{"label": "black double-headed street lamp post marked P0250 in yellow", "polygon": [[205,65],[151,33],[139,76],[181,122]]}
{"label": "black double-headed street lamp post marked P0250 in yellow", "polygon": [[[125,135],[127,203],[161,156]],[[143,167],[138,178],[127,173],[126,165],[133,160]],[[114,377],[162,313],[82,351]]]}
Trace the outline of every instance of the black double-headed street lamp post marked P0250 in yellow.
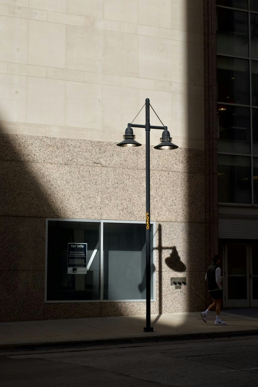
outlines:
{"label": "black double-headed street lamp post marked P0250 in yellow", "polygon": [[[146,327],[144,327],[144,332],[153,332],[153,327],[150,326],[150,129],[161,129],[162,137],[161,143],[156,145],[155,149],[160,149],[162,151],[171,150],[178,148],[177,145],[173,144],[172,138],[167,130],[167,127],[163,126],[154,126],[150,125],[150,104],[149,98],[145,99],[145,125],[136,125],[128,123],[127,128],[125,129],[125,134],[123,135],[123,141],[116,144],[117,146],[132,148],[135,146],[141,146],[139,142],[135,141],[135,135],[133,134],[132,128],[145,128],[146,134]],[[143,106],[143,107],[144,107]],[[143,108],[142,107],[142,108]],[[155,110],[152,108],[156,116],[158,117]],[[159,117],[158,117],[159,118]],[[160,120],[160,119],[159,119]],[[160,120],[161,121],[161,120]],[[160,284],[161,286],[161,284]]]}

